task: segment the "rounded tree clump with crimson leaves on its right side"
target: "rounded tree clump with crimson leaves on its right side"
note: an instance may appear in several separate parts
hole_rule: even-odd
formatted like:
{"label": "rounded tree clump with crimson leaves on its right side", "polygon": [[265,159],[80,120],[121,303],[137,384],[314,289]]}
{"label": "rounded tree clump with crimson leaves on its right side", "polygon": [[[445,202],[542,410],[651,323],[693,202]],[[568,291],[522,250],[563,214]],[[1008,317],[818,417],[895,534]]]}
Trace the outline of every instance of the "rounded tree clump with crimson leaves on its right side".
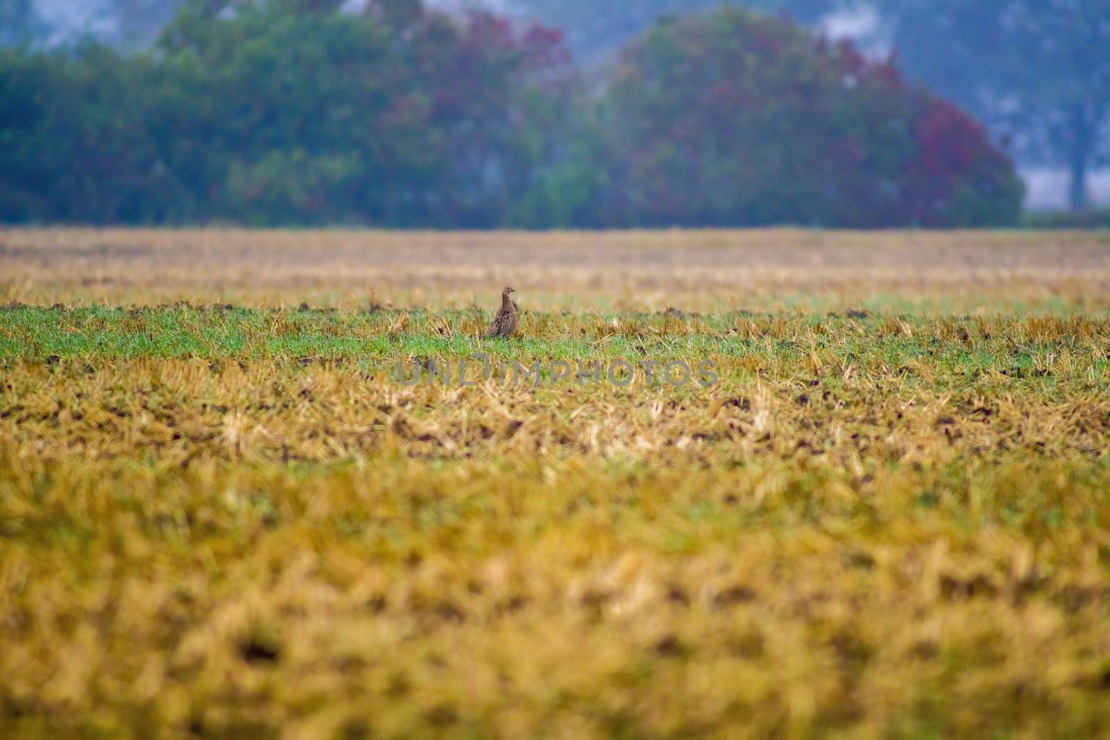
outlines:
{"label": "rounded tree clump with crimson leaves on its right side", "polygon": [[1022,185],[969,115],[789,21],[658,24],[603,101],[607,222],[878,227],[1012,223]]}

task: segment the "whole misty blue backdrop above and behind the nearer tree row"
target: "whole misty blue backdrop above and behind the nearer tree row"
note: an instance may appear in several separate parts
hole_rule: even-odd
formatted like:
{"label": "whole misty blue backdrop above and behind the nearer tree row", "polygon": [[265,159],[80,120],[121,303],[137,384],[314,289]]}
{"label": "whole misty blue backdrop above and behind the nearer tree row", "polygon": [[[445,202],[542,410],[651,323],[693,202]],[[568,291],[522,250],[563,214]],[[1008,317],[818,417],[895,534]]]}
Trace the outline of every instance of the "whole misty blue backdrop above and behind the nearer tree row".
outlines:
{"label": "whole misty blue backdrop above and behind the nearer tree row", "polygon": [[[407,0],[397,0],[402,4]],[[190,0],[0,0],[0,44],[58,50],[151,49]],[[340,0],[336,0],[340,2]],[[204,2],[194,2],[203,6]],[[223,12],[235,3],[215,0]],[[313,4],[306,0],[306,6]],[[326,1],[317,4],[329,4]],[[336,4],[336,3],[331,3]],[[365,12],[367,0],[340,2]],[[485,8],[513,22],[559,29],[588,80],[660,20],[722,0],[427,0],[462,13]],[[1110,205],[1110,0],[734,0],[848,39],[868,59],[894,60],[912,84],[986,126],[1026,183],[1027,209]],[[2,94],[2,93],[0,93]]]}

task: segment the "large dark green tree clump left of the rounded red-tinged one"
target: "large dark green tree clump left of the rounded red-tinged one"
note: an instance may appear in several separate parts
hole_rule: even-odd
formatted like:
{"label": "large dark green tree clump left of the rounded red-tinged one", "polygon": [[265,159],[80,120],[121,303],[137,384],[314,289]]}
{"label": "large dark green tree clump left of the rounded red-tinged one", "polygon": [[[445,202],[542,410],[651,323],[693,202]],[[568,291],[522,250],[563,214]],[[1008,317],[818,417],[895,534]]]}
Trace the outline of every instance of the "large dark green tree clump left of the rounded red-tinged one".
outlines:
{"label": "large dark green tree clump left of the rounded red-tinged one", "polygon": [[507,223],[568,130],[561,36],[342,4],[189,0],[150,51],[3,52],[0,217]]}

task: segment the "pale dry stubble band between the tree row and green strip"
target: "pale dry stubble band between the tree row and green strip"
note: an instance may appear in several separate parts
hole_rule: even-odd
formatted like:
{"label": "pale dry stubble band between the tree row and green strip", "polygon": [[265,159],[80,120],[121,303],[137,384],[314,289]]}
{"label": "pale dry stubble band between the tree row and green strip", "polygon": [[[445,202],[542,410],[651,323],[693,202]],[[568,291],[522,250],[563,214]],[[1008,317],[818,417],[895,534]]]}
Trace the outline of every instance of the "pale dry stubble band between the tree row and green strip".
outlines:
{"label": "pale dry stubble band between the tree row and green strip", "polygon": [[[506,267],[507,275],[506,275]],[[8,300],[694,311],[897,295],[1110,306],[1110,232],[0,231]],[[506,277],[509,280],[506,281]],[[522,303],[522,305],[524,305]],[[949,306],[951,307],[951,306]]]}

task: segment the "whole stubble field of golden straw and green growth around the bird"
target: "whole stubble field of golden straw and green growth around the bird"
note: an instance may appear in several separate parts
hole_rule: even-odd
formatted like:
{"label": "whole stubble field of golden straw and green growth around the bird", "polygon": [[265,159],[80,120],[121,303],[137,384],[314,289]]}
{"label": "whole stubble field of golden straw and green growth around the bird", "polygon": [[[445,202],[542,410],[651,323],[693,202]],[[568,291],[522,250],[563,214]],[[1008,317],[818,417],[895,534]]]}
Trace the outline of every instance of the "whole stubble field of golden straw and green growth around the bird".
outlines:
{"label": "whole stubble field of golden straw and green growth around the bird", "polygon": [[0,231],[0,737],[1110,733],[1107,232]]}

